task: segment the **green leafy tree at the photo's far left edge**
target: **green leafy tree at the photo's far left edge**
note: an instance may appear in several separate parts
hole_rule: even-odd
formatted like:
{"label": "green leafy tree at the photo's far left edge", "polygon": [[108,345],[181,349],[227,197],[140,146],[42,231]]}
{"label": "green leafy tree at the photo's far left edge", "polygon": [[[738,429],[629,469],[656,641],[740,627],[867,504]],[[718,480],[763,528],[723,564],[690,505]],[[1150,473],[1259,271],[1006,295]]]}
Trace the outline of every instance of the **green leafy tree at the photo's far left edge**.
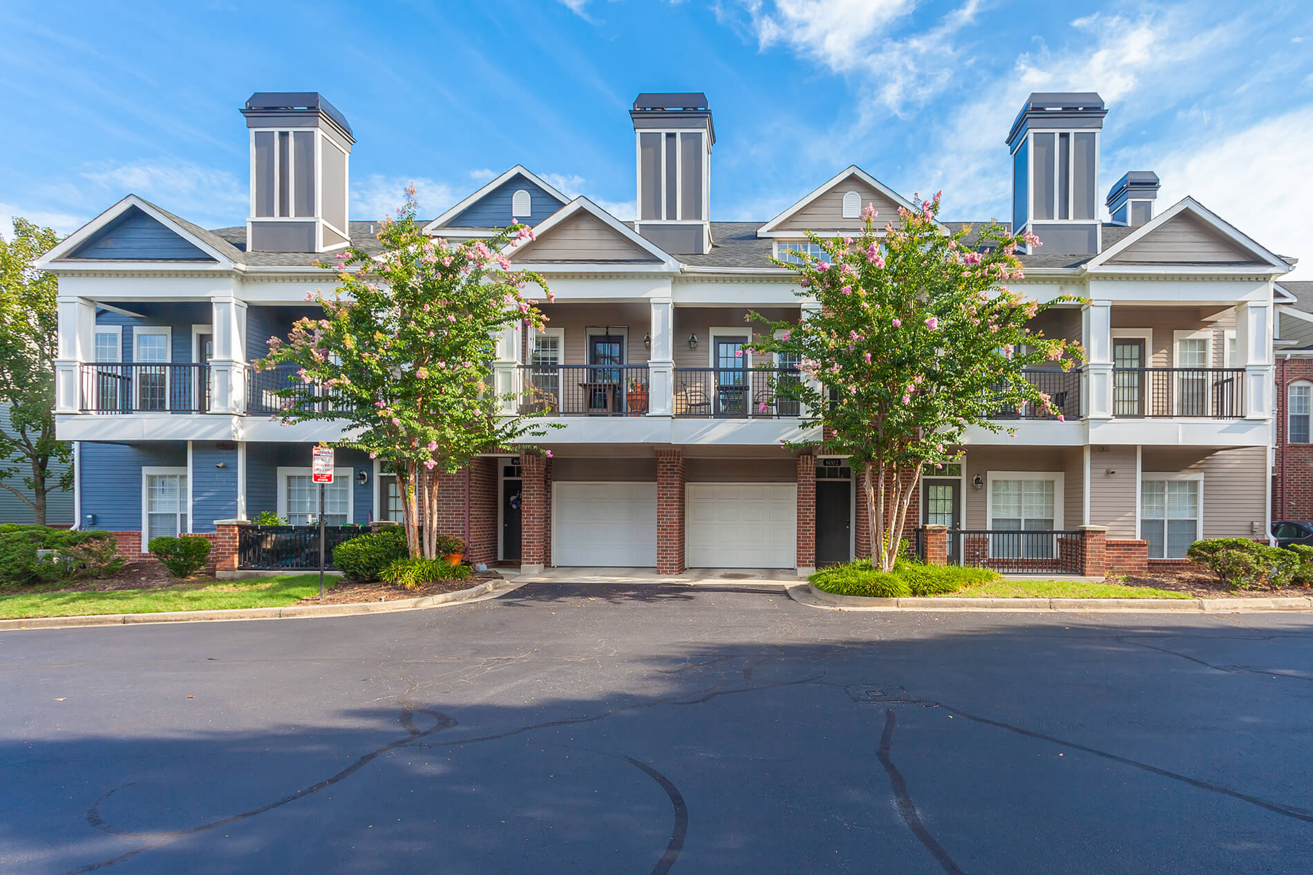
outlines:
{"label": "green leafy tree at the photo's far left edge", "polygon": [[[74,484],[72,449],[55,439],[55,350],[58,319],[54,274],[32,262],[49,252],[59,235],[26,219],[13,220],[13,239],[0,236],[0,488],[32,508],[46,525],[46,499]],[[64,466],[55,475],[50,466]]]}

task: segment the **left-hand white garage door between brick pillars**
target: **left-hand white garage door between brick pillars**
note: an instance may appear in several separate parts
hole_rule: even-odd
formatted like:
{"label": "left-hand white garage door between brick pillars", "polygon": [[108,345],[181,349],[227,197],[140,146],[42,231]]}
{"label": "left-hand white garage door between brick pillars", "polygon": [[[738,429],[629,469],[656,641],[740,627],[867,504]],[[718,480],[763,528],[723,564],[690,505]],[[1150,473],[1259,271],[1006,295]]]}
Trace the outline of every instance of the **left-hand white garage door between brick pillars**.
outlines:
{"label": "left-hand white garage door between brick pillars", "polygon": [[551,527],[557,565],[653,568],[656,564],[655,483],[554,483]]}

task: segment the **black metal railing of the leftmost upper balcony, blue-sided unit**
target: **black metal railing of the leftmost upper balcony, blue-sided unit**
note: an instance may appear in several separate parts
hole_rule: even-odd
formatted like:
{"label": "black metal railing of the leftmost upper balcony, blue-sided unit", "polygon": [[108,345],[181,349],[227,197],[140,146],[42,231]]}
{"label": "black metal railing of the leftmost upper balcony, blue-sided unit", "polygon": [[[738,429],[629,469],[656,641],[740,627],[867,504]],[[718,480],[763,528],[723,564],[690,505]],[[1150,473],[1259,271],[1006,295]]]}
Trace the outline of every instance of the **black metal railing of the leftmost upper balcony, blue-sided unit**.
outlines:
{"label": "black metal railing of the leftmost upper balcony, blue-sided unit", "polygon": [[84,413],[204,413],[210,409],[209,365],[80,366]]}

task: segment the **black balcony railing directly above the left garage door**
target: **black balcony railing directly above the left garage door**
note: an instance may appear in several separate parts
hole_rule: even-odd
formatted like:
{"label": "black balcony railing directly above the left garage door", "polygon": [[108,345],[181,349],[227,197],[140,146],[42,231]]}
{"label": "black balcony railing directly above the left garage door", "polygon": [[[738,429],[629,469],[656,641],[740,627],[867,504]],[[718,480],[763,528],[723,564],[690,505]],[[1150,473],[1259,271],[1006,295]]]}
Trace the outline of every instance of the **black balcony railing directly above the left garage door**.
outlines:
{"label": "black balcony railing directly above the left garage door", "polygon": [[642,416],[650,409],[646,365],[520,365],[520,412]]}

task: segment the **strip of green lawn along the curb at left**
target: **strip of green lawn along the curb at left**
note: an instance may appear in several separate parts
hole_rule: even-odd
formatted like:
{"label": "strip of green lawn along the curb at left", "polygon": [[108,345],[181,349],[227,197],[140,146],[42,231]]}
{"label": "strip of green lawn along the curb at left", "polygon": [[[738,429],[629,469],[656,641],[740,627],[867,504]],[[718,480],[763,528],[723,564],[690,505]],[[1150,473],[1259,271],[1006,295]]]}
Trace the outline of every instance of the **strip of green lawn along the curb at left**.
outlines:
{"label": "strip of green lawn along the curb at left", "polygon": [[[334,579],[326,581],[332,586]],[[319,594],[319,575],[288,575],[259,580],[231,580],[206,586],[163,586],[96,592],[33,592],[0,588],[0,619],[25,617],[84,617],[87,614],[154,614],[227,607],[284,607]],[[8,592],[7,592],[8,590]],[[14,593],[14,594],[8,594]]]}

